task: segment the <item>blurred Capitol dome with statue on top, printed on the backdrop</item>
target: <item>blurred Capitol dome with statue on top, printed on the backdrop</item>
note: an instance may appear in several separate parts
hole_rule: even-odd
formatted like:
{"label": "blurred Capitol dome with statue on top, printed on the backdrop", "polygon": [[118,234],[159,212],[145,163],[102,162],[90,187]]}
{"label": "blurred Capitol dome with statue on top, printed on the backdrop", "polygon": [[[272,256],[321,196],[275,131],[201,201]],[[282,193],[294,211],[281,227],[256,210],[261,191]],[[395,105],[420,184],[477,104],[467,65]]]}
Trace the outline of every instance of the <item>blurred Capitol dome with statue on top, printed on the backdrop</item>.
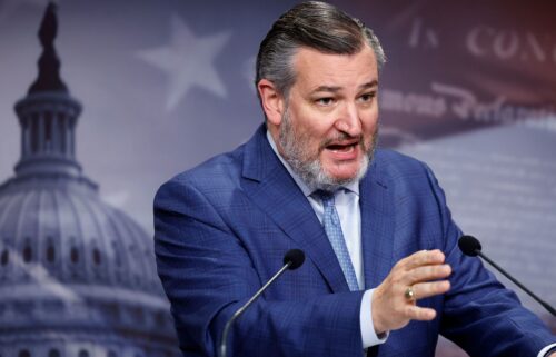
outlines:
{"label": "blurred Capitol dome with statue on top, printed on the backdrop", "polygon": [[179,356],[152,238],[76,158],[81,103],[60,78],[56,6],[16,103],[21,157],[0,185],[0,357]]}

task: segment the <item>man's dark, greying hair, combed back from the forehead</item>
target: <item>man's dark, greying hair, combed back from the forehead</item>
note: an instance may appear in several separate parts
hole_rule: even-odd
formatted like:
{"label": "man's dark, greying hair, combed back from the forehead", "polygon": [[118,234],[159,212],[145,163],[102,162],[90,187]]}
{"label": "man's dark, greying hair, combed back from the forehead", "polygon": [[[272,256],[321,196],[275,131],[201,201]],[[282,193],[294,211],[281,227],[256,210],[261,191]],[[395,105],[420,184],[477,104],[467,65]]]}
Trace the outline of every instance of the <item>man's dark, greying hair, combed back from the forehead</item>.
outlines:
{"label": "man's dark, greying hair, combed back from the forehead", "polygon": [[[299,3],[272,24],[260,43],[255,86],[261,79],[268,79],[287,99],[296,80],[292,58],[300,47],[322,53],[355,54],[365,43],[375,52],[380,70],[386,56],[373,30],[329,3]],[[257,95],[260,100],[258,91]]]}

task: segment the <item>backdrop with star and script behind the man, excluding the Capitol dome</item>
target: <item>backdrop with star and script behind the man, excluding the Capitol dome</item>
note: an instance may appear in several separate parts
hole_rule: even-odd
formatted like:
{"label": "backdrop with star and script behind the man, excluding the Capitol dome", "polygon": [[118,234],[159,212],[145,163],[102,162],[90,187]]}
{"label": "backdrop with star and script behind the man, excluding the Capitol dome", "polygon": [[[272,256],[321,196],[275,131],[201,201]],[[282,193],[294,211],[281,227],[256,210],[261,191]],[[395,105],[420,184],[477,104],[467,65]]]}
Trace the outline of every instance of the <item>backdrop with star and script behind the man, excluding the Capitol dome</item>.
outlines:
{"label": "backdrop with star and script behind the man, excluding the Capitol dome", "polygon": [[[464,231],[556,305],[556,2],[334,2],[388,57],[380,145],[429,163]],[[61,77],[83,105],[77,158],[105,201],[151,236],[159,185],[251,136],[258,44],[294,3],[59,1]],[[44,8],[0,1],[0,181],[20,158],[13,106],[37,77]]]}

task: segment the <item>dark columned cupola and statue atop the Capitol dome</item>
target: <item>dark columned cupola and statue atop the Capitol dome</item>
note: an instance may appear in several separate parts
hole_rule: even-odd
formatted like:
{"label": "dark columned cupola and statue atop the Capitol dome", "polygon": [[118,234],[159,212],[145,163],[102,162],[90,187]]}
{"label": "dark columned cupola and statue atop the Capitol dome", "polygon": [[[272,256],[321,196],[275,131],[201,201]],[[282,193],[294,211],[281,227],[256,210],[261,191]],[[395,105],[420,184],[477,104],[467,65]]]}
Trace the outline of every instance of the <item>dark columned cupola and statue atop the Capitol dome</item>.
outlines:
{"label": "dark columned cupola and statue atop the Capitol dome", "polygon": [[39,75],[26,98],[16,103],[21,126],[21,158],[18,176],[78,176],[76,160],[76,126],[81,105],[69,95],[60,78],[60,60],[56,53],[58,32],[56,4],[49,3],[42,18],[39,39],[42,54]]}

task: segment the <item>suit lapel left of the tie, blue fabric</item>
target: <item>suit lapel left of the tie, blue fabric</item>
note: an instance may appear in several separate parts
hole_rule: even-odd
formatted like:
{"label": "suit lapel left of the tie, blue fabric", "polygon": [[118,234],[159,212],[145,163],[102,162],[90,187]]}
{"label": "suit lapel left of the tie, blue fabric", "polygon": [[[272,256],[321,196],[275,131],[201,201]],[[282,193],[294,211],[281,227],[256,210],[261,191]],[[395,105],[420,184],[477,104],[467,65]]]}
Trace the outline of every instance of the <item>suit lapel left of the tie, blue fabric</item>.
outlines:
{"label": "suit lapel left of the tie, blue fabric", "polygon": [[242,187],[251,201],[289,236],[334,292],[349,291],[336,255],[312,207],[288,173],[261,126],[246,143]]}

